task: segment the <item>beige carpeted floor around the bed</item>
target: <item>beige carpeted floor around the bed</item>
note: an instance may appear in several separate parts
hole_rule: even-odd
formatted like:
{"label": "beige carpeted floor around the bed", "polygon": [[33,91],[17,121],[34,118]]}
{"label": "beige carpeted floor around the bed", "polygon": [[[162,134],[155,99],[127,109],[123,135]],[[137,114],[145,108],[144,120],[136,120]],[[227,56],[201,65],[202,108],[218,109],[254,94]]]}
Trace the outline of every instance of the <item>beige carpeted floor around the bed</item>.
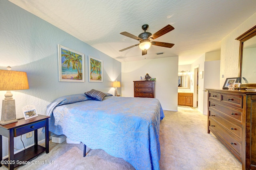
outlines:
{"label": "beige carpeted floor around the bed", "polygon": [[[241,170],[242,164],[210,133],[207,116],[196,111],[164,111],[160,123],[161,170]],[[17,170],[134,170],[122,158],[110,156],[101,149],[87,149],[83,144],[50,141],[50,152],[40,154],[30,164]],[[51,162],[52,164],[49,164]],[[0,170],[5,170],[1,167]]]}

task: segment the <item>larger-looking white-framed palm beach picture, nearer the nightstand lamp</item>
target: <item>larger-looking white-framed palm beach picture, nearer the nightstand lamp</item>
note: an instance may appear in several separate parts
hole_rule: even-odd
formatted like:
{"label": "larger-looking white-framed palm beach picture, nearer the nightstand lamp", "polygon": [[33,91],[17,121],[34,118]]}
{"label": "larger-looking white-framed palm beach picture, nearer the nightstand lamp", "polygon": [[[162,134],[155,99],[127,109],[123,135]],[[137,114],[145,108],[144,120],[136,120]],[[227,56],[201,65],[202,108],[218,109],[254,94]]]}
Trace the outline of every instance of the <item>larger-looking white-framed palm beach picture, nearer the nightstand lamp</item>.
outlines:
{"label": "larger-looking white-framed palm beach picture, nearer the nightstand lamp", "polygon": [[59,81],[84,82],[84,54],[58,45]]}

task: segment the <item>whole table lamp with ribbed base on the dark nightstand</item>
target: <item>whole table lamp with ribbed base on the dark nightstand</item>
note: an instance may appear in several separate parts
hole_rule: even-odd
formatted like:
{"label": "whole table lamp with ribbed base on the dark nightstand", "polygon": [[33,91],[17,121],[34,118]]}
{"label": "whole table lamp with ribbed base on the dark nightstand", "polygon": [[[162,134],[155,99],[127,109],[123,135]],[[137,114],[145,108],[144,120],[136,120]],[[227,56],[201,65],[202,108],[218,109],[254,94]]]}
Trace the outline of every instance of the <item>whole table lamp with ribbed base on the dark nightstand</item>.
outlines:
{"label": "whole table lamp with ribbed base on the dark nightstand", "polygon": [[0,70],[0,90],[7,90],[2,104],[0,125],[6,125],[18,121],[16,119],[15,100],[12,98],[10,90],[29,89],[26,72],[11,71],[10,66],[8,66],[7,69],[8,70]]}

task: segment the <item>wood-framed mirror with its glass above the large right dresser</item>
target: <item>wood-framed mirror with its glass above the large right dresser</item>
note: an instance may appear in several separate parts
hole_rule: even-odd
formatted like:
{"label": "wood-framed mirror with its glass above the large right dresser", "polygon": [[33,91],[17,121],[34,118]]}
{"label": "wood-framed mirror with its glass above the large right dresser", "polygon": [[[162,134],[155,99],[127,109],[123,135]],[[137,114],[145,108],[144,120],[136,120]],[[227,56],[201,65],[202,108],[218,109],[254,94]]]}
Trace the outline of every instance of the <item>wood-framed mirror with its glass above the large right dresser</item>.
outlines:
{"label": "wood-framed mirror with its glass above the large right dresser", "polygon": [[256,26],[252,27],[236,40],[240,41],[239,75],[240,86],[256,86]]}

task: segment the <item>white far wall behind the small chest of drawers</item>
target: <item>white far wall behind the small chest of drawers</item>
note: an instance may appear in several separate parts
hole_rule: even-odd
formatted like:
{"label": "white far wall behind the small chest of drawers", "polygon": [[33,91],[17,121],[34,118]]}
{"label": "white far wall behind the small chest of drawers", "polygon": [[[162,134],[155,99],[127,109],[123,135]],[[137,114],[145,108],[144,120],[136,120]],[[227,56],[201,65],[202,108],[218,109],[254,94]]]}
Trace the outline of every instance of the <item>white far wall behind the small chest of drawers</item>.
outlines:
{"label": "white far wall behind the small chest of drawers", "polygon": [[177,110],[178,57],[122,63],[122,96],[134,96],[134,80],[148,73],[156,78],[156,98],[164,110]]}

